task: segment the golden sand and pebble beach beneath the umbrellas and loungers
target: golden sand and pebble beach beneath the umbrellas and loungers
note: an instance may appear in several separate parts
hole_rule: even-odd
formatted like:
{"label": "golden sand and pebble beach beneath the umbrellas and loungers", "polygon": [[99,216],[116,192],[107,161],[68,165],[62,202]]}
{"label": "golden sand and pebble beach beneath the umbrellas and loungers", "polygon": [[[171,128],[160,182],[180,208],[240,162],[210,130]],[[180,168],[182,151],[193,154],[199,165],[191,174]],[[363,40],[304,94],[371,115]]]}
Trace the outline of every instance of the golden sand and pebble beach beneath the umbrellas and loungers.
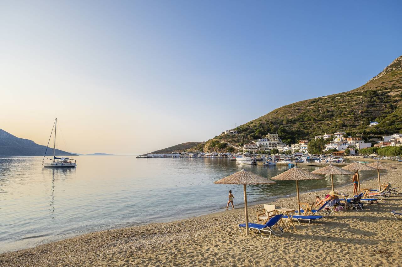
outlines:
{"label": "golden sand and pebble beach beneath the umbrellas and loungers", "polygon": [[[402,165],[381,173],[381,182],[402,186]],[[376,188],[377,177],[361,188]],[[338,187],[352,194],[352,184]],[[301,202],[313,202],[330,190],[301,194]],[[400,190],[402,191],[402,190]],[[303,192],[302,192],[303,193]],[[236,196],[235,204],[243,196]],[[364,206],[364,212],[338,212],[316,223],[302,223],[270,240],[255,232],[240,234],[244,209],[238,208],[171,223],[155,223],[80,235],[32,249],[0,255],[1,266],[390,266],[402,257],[402,221],[391,210],[402,209],[402,195]],[[296,208],[296,199],[281,198],[270,204]],[[249,219],[256,223],[256,210]]]}

